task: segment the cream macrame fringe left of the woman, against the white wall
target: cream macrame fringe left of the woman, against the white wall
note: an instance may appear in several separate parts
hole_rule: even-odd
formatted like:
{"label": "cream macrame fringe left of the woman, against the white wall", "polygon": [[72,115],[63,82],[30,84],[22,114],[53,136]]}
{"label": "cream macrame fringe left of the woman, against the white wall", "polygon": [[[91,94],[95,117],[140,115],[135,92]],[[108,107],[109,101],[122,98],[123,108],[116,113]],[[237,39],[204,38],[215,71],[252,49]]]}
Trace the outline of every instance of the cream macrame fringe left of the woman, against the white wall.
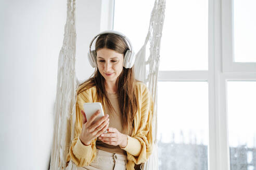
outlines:
{"label": "cream macrame fringe left of the woman, against the white wall", "polygon": [[[76,89],[78,87],[75,77],[75,42],[75,0],[68,0],[65,34],[58,59],[57,92],[54,106],[55,126],[50,157],[50,169],[54,170],[66,169],[67,151],[71,145],[70,141],[74,137]],[[73,122],[70,122],[71,116]],[[68,129],[70,125],[71,131]]]}

